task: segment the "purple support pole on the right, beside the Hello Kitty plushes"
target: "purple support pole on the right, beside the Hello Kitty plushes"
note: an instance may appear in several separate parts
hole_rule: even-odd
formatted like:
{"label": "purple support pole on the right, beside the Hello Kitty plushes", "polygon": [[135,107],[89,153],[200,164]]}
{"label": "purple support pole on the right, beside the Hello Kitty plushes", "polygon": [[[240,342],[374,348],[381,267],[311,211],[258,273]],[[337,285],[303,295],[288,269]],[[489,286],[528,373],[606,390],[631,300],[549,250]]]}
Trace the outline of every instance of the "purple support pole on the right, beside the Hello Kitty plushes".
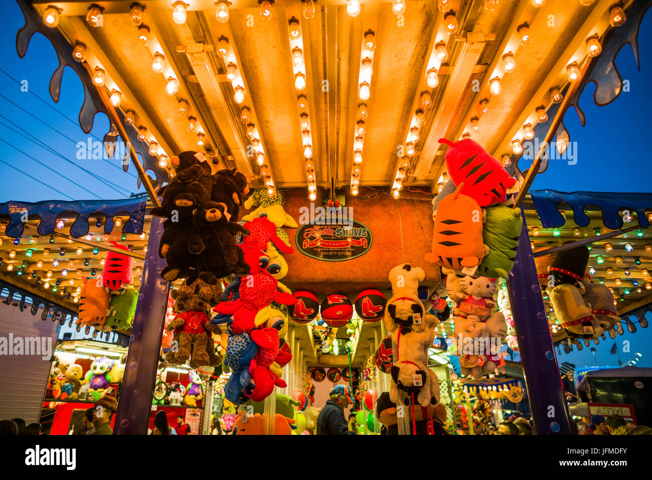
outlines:
{"label": "purple support pole on the right, beside the Hello Kitty plushes", "polygon": [[522,209],[521,216],[523,227],[518,239],[513,276],[509,277],[507,288],[527,397],[537,434],[570,435],[568,406]]}

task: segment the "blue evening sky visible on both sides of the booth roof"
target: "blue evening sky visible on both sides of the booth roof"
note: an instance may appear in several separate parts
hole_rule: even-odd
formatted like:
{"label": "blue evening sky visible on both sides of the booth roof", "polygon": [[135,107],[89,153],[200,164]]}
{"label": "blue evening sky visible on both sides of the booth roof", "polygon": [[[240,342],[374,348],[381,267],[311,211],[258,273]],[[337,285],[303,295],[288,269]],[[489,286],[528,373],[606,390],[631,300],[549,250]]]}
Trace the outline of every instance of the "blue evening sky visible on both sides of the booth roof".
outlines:
{"label": "blue evening sky visible on both sides of the booth roof", "polygon": [[[82,106],[82,86],[78,76],[65,70],[61,98],[50,98],[50,76],[57,67],[54,49],[35,35],[24,59],[16,53],[16,32],[24,21],[20,8],[6,2],[0,44],[0,178],[3,178],[0,202],[9,200],[41,201],[68,199],[121,199],[138,189],[133,167],[125,173],[118,160],[78,160],[78,141],[102,141],[108,131],[108,119],[100,114],[90,134],[78,125]],[[533,189],[560,191],[633,191],[650,192],[651,160],[643,139],[650,136],[652,96],[652,14],[645,16],[639,35],[640,68],[632,49],[625,46],[616,59],[621,76],[630,81],[630,92],[623,92],[605,107],[593,104],[593,84],[580,99],[586,115],[582,127],[574,109],[565,117],[571,141],[578,145],[578,162],[550,162],[548,170],[537,176]],[[27,92],[21,82],[27,80]],[[640,366],[652,367],[652,328],[617,337],[631,342],[630,354],[642,352]],[[596,358],[599,365],[617,366],[617,356],[609,350],[614,341],[600,342]],[[562,354],[559,361],[578,366],[595,365],[588,348]]]}

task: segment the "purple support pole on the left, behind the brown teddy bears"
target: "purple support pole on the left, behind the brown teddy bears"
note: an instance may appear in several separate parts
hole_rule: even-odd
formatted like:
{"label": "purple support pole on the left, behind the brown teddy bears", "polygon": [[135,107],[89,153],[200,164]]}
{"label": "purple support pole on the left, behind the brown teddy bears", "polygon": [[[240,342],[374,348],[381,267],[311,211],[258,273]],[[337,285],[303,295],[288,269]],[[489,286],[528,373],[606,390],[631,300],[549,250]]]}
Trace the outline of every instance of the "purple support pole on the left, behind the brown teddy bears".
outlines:
{"label": "purple support pole on the left, behind the brown teddy bears", "polygon": [[152,218],[138,306],[126,357],[125,378],[120,391],[118,411],[115,414],[114,435],[147,434],[158,352],[170,290],[170,283],[160,275],[167,264],[165,259],[158,257],[158,244],[162,234],[161,219]]}

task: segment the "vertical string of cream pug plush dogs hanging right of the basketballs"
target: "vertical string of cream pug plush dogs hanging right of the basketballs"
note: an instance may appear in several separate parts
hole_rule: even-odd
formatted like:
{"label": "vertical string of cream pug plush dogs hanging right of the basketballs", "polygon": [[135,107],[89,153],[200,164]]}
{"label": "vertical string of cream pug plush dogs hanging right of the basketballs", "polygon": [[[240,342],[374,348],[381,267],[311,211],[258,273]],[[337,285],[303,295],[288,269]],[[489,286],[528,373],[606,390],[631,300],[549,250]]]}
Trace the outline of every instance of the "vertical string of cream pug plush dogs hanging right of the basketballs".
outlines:
{"label": "vertical string of cream pug plush dogs hanging right of the basketballs", "polygon": [[419,300],[419,281],[425,277],[421,268],[410,264],[395,266],[389,273],[393,296],[385,309],[385,328],[396,342],[391,367],[390,396],[398,402],[398,391],[408,393],[404,404],[421,406],[439,402],[439,382],[428,368],[428,348],[435,339],[437,317],[424,314]]}

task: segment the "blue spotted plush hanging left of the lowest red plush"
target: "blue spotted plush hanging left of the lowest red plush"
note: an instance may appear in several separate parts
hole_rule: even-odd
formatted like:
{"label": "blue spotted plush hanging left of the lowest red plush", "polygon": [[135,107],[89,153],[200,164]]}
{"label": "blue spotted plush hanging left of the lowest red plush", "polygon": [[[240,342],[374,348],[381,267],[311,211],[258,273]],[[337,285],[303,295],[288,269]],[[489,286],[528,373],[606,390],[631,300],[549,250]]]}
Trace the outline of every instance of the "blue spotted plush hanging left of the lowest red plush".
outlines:
{"label": "blue spotted plush hanging left of the lowest red plush", "polygon": [[245,393],[254,386],[249,384],[251,374],[249,364],[256,356],[258,345],[251,341],[246,333],[231,335],[226,343],[226,364],[231,369],[231,376],[224,386],[224,397],[235,405],[242,405],[249,397]]}

